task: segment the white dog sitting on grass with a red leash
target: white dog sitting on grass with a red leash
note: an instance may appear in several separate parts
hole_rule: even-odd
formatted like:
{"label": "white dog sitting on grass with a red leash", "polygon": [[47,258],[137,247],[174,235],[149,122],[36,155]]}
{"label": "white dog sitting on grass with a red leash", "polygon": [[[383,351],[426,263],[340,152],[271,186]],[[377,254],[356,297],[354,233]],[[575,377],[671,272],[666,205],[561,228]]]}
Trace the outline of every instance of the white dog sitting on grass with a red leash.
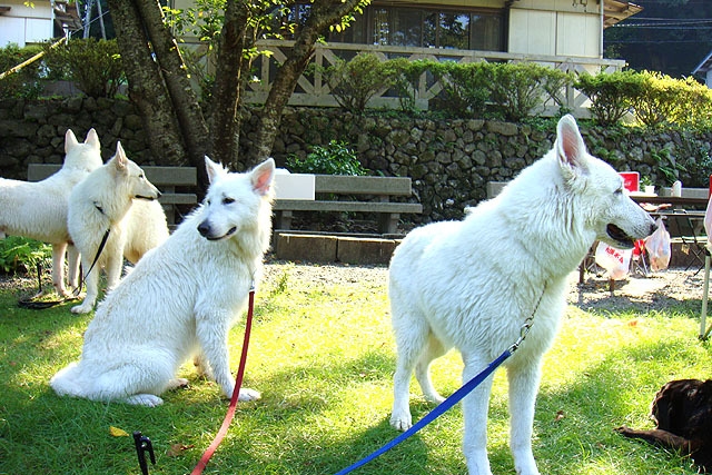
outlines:
{"label": "white dog sitting on grass with a red leash", "polygon": [[[85,334],[79,363],[60,370],[57,394],[156,406],[198,367],[233,396],[228,333],[261,274],[271,227],[271,159],[248,174],[228,174],[206,158],[205,202],[161,246],[148,253],[107,298]],[[241,400],[259,393],[241,389]]]}

